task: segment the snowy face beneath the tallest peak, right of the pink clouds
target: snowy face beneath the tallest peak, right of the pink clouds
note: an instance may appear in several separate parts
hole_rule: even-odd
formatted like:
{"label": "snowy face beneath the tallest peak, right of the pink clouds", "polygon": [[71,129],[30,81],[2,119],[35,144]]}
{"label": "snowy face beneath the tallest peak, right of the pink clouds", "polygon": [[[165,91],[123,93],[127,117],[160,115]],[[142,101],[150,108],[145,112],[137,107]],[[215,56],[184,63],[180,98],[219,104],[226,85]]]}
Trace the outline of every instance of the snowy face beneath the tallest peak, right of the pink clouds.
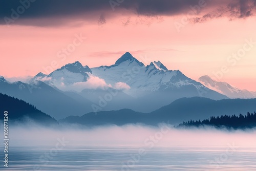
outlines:
{"label": "snowy face beneath the tallest peak, right of the pink clouds", "polygon": [[[122,58],[122,57],[121,57]],[[124,59],[126,59],[124,57]],[[180,71],[169,71],[161,66],[160,61],[153,62],[146,67],[141,66],[135,58],[124,60],[117,65],[101,66],[92,68],[93,75],[103,78],[106,83],[114,85],[116,82],[124,82],[131,89],[125,93],[133,97],[138,97],[144,92],[154,92],[168,88],[176,88],[187,84],[194,84]],[[157,66],[157,67],[156,67]],[[196,84],[196,83],[195,83]]]}

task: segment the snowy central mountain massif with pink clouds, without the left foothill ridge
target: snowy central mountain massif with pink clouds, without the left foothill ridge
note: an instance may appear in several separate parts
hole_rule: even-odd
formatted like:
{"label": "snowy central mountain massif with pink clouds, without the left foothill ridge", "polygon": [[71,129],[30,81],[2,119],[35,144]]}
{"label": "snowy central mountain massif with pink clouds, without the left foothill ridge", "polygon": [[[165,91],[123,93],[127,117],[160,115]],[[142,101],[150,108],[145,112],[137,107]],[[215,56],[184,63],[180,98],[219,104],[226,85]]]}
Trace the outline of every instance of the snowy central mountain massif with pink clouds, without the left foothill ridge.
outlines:
{"label": "snowy central mountain massif with pink clouds, without the left foothill ridge", "polygon": [[73,98],[78,101],[90,101],[87,111],[91,112],[131,109],[148,113],[182,97],[228,98],[179,70],[168,70],[160,61],[145,66],[129,52],[111,66],[89,68],[76,61],[49,75],[38,73],[30,83],[37,81],[62,92],[76,93],[79,100]]}

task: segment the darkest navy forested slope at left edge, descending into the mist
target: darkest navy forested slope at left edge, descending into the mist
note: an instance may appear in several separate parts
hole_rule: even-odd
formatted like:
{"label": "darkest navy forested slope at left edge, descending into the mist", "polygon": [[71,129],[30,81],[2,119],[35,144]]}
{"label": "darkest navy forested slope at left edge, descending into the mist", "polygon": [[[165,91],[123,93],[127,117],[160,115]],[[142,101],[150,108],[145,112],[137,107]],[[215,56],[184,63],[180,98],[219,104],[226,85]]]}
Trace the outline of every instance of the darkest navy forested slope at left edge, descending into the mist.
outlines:
{"label": "darkest navy forested slope at left edge, descending into the mist", "polygon": [[26,119],[29,118],[43,125],[58,124],[54,118],[45,113],[42,113],[34,106],[23,100],[4,95],[2,93],[0,93],[0,100],[0,110],[3,112],[8,111],[8,120],[26,121]]}

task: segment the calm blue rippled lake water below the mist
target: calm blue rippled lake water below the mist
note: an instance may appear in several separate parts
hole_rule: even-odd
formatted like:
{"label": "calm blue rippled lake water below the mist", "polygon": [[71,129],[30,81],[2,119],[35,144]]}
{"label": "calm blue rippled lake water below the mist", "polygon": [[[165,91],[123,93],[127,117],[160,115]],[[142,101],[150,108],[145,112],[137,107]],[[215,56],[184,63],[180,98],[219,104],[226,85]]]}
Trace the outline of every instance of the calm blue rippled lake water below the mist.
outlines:
{"label": "calm blue rippled lake water below the mist", "polygon": [[[145,149],[145,151],[143,150]],[[7,170],[256,170],[255,148],[11,146]],[[2,163],[3,166],[3,163]],[[3,168],[1,166],[1,168]]]}

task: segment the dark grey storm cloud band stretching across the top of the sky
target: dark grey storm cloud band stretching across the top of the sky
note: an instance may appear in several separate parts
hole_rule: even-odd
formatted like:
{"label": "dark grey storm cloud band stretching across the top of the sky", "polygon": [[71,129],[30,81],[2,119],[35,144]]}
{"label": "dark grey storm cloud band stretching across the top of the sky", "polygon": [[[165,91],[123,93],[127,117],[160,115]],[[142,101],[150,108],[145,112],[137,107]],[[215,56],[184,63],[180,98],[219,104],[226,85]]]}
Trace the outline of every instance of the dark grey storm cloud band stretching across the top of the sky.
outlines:
{"label": "dark grey storm cloud band stretching across the top of the sky", "polygon": [[[0,0],[0,24],[51,26],[93,20],[102,26],[108,18],[120,16],[124,10],[136,15],[170,16],[185,14],[189,6],[198,5],[200,1],[203,0]],[[205,3],[204,10],[199,11],[202,17],[195,18],[194,22],[222,16],[249,17],[253,15],[256,0],[205,0]]]}

